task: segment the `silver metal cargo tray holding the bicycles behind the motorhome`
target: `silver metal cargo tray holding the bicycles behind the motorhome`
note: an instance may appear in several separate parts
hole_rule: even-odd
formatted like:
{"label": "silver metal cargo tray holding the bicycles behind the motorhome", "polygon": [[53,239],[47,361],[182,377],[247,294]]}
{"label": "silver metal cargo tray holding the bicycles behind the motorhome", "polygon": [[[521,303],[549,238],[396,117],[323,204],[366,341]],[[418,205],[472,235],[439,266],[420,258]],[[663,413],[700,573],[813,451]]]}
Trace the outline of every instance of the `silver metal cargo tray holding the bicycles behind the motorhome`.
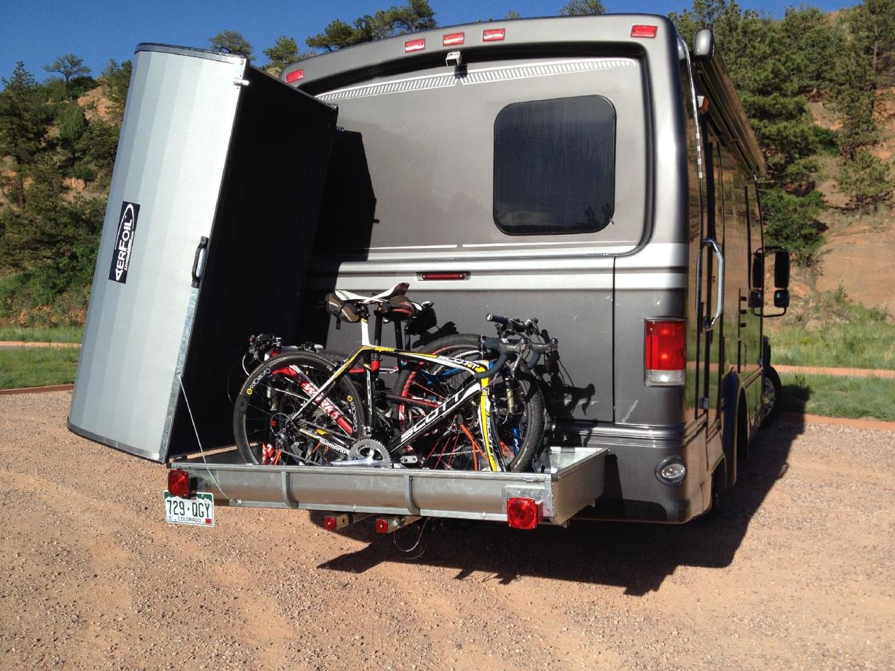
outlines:
{"label": "silver metal cargo tray holding the bicycles behind the motorhome", "polygon": [[607,447],[549,447],[542,472],[269,466],[242,463],[235,449],[177,460],[217,505],[332,513],[452,517],[507,522],[507,500],[531,498],[542,521],[566,524],[601,496]]}

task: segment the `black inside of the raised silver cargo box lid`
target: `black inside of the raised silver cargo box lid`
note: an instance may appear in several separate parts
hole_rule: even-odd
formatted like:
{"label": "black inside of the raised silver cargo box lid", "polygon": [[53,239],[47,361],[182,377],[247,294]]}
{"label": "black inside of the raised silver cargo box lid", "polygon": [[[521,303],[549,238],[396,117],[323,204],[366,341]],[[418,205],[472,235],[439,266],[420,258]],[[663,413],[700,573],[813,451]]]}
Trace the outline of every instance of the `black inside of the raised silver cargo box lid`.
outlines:
{"label": "black inside of the raised silver cargo box lid", "polygon": [[[254,68],[246,80],[183,372],[205,449],[233,443],[249,335],[296,332],[336,129],[333,107]],[[198,450],[183,395],[170,445],[169,457]]]}

